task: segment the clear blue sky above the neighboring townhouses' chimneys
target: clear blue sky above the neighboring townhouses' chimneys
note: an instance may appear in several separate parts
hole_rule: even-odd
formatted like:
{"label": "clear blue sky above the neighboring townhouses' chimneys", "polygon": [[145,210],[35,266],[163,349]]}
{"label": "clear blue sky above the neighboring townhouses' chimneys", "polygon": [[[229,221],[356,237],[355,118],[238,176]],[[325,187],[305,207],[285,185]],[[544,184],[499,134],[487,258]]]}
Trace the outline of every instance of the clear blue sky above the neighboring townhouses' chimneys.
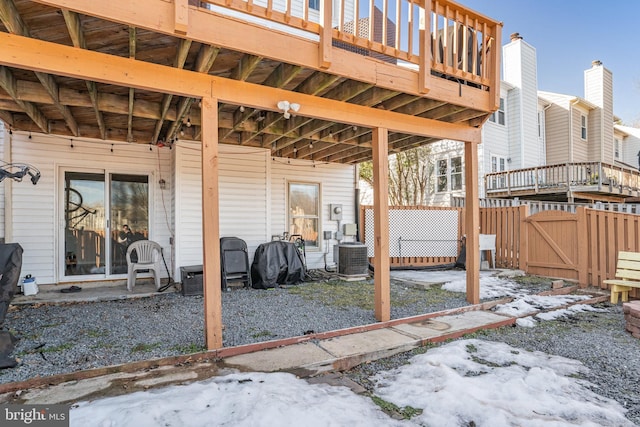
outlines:
{"label": "clear blue sky above the neighboring townhouses' chimneys", "polygon": [[536,48],[539,90],[584,97],[584,70],[602,61],[613,73],[614,115],[640,122],[640,1],[458,2],[501,21],[503,45],[517,32]]}

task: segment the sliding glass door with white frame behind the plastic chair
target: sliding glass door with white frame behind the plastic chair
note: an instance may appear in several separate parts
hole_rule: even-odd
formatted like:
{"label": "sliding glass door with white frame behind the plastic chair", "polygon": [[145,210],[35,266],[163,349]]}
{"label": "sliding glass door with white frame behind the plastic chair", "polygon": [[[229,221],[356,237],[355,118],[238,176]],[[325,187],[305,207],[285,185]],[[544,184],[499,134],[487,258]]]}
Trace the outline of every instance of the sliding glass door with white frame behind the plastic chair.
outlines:
{"label": "sliding glass door with white frame behind the plastic chair", "polygon": [[[149,177],[66,170],[63,278],[127,272],[127,247],[149,236]],[[125,227],[126,226],[126,227]]]}

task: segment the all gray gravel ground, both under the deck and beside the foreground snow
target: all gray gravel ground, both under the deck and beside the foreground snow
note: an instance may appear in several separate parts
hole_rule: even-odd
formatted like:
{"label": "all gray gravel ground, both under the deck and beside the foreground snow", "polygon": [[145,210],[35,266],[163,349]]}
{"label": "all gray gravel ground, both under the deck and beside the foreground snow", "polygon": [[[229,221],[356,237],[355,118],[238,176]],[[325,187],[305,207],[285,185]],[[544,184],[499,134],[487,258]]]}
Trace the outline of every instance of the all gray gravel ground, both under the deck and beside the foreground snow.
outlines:
{"label": "all gray gravel ground, both under the deck and beside the foreground snow", "polygon": [[[521,281],[531,293],[549,289],[548,280]],[[393,319],[467,305],[464,294],[433,286],[428,290],[392,280]],[[222,294],[224,346],[324,332],[374,323],[373,283],[320,281],[268,290],[233,289]],[[481,331],[476,338],[501,341],[580,360],[597,393],[629,409],[640,424],[640,340],[624,331],[620,306],[540,322],[535,328]],[[20,364],[0,370],[0,383],[22,381],[136,360],[204,350],[201,297],[179,293],[99,303],[14,307],[5,327],[20,339]],[[347,375],[370,388],[369,375],[407,362],[402,353],[362,365]]]}

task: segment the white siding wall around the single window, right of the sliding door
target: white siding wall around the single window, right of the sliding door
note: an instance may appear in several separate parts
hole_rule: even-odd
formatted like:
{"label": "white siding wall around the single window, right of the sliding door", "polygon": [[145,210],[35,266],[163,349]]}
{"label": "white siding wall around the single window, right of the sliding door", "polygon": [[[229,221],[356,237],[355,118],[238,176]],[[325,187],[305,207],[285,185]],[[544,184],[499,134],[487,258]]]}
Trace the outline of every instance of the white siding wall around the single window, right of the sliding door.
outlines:
{"label": "white siding wall around the single window, right of the sliding door", "polygon": [[[287,182],[321,183],[322,230],[337,231],[329,221],[329,203],[343,205],[342,224],[355,223],[354,167],[272,158],[269,150],[221,144],[220,236],[244,240],[249,262],[256,248],[287,230]],[[176,274],[202,264],[202,184],[200,145],[180,141],[176,152]],[[323,243],[324,244],[324,243]],[[307,252],[309,268],[323,268],[322,251]],[[179,276],[177,276],[179,277]]]}

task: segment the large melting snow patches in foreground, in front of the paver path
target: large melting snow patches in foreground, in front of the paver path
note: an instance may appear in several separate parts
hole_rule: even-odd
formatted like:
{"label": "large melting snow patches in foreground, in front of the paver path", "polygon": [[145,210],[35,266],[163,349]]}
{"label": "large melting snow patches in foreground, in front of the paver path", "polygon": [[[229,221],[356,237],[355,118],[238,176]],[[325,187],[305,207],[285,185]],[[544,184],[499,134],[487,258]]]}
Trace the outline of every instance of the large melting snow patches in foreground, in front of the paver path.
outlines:
{"label": "large melting snow patches in foreground, in front of the paver path", "polygon": [[286,373],[234,373],[81,402],[71,426],[632,426],[591,391],[580,362],[503,343],[461,340],[379,372],[375,394],[422,414],[398,421],[346,387]]}

